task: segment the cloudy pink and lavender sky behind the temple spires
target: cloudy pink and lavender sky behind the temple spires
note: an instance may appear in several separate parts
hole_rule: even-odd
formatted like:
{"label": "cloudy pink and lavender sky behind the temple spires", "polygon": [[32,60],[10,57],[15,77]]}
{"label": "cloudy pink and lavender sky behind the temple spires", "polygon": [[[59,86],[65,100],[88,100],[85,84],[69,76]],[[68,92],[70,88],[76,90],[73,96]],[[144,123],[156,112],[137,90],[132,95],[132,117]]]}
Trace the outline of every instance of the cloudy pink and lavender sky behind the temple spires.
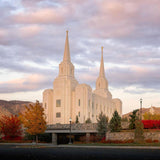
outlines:
{"label": "cloudy pink and lavender sky behind the temple spires", "polygon": [[159,0],[1,0],[0,99],[42,101],[62,61],[66,30],[75,76],[95,89],[101,46],[123,113],[160,107]]}

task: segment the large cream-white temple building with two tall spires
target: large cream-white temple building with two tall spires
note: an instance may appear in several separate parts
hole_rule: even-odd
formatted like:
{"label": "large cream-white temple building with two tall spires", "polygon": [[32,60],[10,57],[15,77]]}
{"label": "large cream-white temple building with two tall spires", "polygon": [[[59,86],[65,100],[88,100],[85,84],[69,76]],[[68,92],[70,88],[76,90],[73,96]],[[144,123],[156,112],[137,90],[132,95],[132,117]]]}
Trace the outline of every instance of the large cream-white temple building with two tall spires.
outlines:
{"label": "large cream-white temple building with two tall spires", "polygon": [[68,124],[69,119],[80,123],[90,118],[92,123],[97,122],[98,115],[103,112],[109,119],[115,110],[122,115],[122,102],[112,99],[108,90],[108,81],[105,77],[103,62],[103,47],[100,62],[99,76],[96,80],[96,89],[87,84],[79,84],[74,76],[74,65],[70,58],[68,31],[63,61],[59,64],[59,74],[53,81],[53,89],[43,92],[43,107],[47,124]]}

